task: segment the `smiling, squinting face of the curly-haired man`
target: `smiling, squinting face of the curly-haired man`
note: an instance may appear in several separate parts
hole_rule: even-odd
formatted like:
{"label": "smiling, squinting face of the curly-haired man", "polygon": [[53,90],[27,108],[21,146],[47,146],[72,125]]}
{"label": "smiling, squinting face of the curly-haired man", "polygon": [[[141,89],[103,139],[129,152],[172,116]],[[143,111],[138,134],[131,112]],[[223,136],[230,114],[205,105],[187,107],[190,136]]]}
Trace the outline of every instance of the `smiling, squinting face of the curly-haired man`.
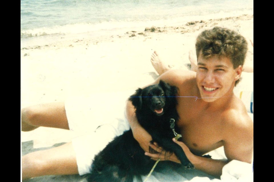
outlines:
{"label": "smiling, squinting face of the curly-haired man", "polygon": [[241,66],[233,69],[230,59],[225,56],[213,55],[198,57],[197,85],[201,98],[213,102],[220,97],[231,96],[235,81],[241,76]]}

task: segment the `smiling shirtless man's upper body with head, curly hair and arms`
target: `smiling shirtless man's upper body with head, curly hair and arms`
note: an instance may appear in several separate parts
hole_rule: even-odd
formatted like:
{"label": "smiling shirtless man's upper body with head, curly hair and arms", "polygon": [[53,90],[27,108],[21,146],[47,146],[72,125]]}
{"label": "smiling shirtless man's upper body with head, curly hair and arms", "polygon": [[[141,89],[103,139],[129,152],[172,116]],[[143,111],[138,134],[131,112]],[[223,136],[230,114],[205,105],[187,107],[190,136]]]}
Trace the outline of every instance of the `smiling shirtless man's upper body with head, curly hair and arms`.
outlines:
{"label": "smiling shirtless man's upper body with head, curly hair and arms", "polygon": [[[242,101],[233,94],[233,88],[241,76],[246,51],[247,42],[236,32],[219,27],[206,30],[196,42],[197,73],[167,71],[160,67],[163,74],[152,83],[164,80],[179,88],[179,96],[183,97],[178,97],[178,126],[183,142],[174,142],[183,148],[196,169],[215,177],[221,176],[223,166],[231,160],[252,162],[253,122]],[[157,56],[156,52],[153,56]],[[134,138],[146,151],[145,154],[154,160],[160,158],[180,163],[174,154],[165,158],[162,148],[150,144],[152,138],[138,124],[130,101],[126,109]],[[159,154],[148,153],[149,146]],[[201,157],[221,146],[227,160]]]}

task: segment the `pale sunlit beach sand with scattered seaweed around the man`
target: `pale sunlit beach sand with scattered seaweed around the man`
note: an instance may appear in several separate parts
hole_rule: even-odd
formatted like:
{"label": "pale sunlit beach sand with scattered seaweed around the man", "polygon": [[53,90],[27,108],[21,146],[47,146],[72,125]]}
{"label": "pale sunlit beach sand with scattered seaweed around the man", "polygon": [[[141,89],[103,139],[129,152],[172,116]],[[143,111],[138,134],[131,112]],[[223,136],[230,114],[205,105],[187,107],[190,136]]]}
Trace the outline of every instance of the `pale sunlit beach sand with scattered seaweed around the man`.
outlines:
{"label": "pale sunlit beach sand with scattered seaweed around the man", "polygon": [[[54,42],[49,37],[21,41],[21,108],[113,91],[128,97],[158,77],[150,63],[154,50],[171,67],[188,70],[188,51],[195,49],[196,37],[214,26],[233,29],[253,41],[253,15],[153,26],[147,31],[140,27],[98,36],[60,36]],[[253,47],[248,43],[245,64],[253,66]],[[117,107],[123,109],[123,104]],[[45,127],[21,132],[22,155],[70,142],[73,137],[72,131]],[[81,180],[79,175],[65,175],[26,181]]]}

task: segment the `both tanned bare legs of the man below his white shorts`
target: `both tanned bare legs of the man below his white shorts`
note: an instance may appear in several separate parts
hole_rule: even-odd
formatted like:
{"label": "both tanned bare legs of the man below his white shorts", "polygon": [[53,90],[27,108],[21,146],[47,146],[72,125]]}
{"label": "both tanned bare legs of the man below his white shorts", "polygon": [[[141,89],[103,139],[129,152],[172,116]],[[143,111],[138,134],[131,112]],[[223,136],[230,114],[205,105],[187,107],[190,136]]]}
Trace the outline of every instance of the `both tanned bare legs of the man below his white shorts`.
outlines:
{"label": "both tanned bare legs of the man below his white shorts", "polygon": [[[21,110],[21,116],[22,131],[40,126],[69,129],[63,102],[26,107]],[[77,173],[76,154],[71,142],[22,156],[22,179]]]}

